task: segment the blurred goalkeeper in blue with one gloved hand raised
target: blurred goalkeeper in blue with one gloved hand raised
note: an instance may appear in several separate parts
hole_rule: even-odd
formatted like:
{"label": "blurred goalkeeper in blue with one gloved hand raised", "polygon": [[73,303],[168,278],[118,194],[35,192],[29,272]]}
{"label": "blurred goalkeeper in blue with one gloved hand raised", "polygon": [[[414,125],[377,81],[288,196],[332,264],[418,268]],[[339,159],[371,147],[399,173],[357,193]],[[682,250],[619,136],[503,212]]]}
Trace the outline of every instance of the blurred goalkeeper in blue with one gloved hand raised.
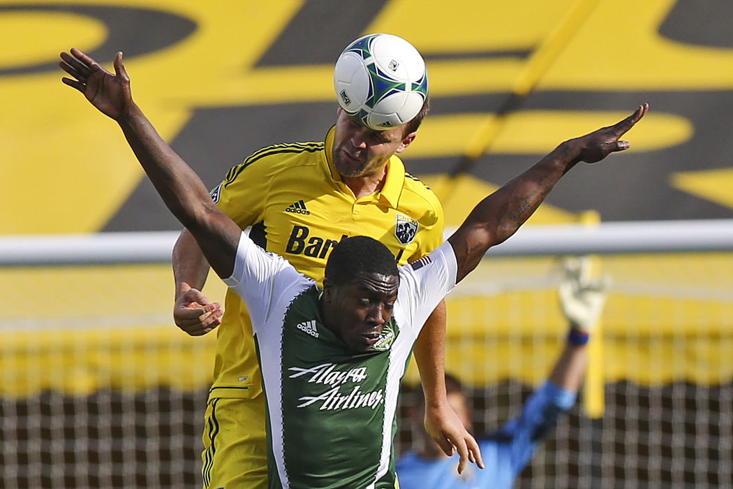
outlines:
{"label": "blurred goalkeeper in blue with one gloved hand raised", "polygon": [[[563,268],[560,305],[570,325],[564,349],[549,378],[529,397],[519,416],[500,430],[476,436],[485,469],[477,470],[469,465],[459,474],[457,457],[444,455],[419,428],[418,448],[397,461],[402,489],[511,488],[539,443],[553,430],[561,413],[575,404],[586,371],[586,344],[603,310],[608,280],[590,279],[586,259],[566,260]],[[460,380],[446,375],[446,389],[448,402],[470,430],[471,408]],[[424,397],[420,386],[414,393],[415,402],[409,408],[410,421],[418,427],[424,417]]]}

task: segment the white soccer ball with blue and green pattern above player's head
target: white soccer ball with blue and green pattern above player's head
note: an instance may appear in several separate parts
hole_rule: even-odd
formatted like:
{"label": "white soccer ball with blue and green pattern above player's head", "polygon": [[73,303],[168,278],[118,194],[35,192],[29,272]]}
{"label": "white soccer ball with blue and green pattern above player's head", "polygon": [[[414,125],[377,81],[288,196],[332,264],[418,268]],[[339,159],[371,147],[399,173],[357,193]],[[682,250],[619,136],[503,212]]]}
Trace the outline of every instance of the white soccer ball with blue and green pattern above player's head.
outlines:
{"label": "white soccer ball with blue and green pattern above player's head", "polygon": [[397,128],[415,117],[427,98],[427,70],[402,37],[369,34],[347,46],[336,61],[339,105],[375,130]]}

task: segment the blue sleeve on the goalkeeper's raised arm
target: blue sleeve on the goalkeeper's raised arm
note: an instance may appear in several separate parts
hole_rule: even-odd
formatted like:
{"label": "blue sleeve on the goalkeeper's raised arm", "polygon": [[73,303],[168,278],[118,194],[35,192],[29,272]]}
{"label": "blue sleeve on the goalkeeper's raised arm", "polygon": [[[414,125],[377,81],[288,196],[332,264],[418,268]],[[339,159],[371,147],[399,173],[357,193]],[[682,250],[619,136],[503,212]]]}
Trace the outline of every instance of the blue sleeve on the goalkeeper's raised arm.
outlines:
{"label": "blue sleeve on the goalkeeper's raised arm", "polygon": [[576,393],[545,382],[529,397],[522,413],[496,433],[482,438],[504,451],[515,475],[527,465],[542,438],[553,430],[561,413],[575,404]]}

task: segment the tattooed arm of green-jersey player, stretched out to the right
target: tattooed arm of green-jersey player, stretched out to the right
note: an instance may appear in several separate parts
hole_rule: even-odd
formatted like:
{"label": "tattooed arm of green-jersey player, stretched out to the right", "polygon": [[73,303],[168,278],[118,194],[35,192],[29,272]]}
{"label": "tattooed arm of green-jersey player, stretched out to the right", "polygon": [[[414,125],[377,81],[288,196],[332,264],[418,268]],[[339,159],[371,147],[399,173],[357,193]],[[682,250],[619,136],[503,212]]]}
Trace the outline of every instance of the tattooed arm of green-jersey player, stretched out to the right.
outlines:
{"label": "tattooed arm of green-jersey player, stretched out to the right", "polygon": [[560,144],[523,174],[487,196],[448,238],[458,261],[456,282],[471,272],[486,251],[513,235],[545,200],[560,178],[575,164],[596,163],[611,152],[623,151],[628,141],[619,141],[644,117],[645,103],[625,120]]}

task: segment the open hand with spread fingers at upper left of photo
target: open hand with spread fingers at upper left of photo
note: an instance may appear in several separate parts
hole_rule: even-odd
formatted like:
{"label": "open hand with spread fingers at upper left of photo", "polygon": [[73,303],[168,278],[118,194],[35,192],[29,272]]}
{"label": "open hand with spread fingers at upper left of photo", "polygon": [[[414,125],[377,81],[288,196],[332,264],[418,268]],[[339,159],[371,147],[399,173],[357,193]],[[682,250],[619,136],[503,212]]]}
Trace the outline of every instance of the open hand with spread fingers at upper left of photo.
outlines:
{"label": "open hand with spread fingers at upper left of photo", "polygon": [[103,114],[119,120],[133,105],[130,77],[122,65],[121,51],[114,56],[114,74],[76,48],[70,54],[62,53],[61,59],[59,66],[74,77],[61,81],[83,93]]}

